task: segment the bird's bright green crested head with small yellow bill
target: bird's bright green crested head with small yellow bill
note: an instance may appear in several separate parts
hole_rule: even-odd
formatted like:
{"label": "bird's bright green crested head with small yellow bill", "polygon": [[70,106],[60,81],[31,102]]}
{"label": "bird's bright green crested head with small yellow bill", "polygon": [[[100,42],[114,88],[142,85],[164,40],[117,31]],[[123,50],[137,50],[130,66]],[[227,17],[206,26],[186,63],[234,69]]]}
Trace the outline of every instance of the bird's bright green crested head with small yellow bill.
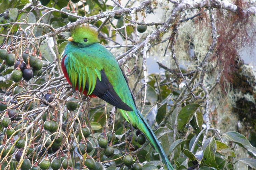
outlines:
{"label": "bird's bright green crested head with small yellow bill", "polygon": [[70,30],[69,41],[77,44],[78,47],[86,47],[98,43],[98,32],[92,27],[81,25]]}

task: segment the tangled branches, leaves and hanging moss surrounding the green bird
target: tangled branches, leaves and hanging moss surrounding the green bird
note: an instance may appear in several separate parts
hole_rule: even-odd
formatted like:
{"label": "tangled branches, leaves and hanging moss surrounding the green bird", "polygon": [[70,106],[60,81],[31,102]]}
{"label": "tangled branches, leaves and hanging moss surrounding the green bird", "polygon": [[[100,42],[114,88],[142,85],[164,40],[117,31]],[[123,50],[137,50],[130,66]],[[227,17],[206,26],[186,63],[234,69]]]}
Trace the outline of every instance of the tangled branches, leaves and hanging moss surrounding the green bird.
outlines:
{"label": "tangled branches, leaves and hanging moss surrounding the green bird", "polygon": [[[85,159],[93,157],[105,169],[122,170],[126,154],[144,169],[165,168],[111,105],[81,96],[63,77],[60,61],[68,30],[80,24],[97,28],[101,43],[116,56],[175,169],[256,168],[255,76],[239,56],[243,48],[255,47],[254,1],[2,0],[0,5],[1,48],[15,54],[15,60],[28,49],[43,62],[30,81],[14,83],[13,66],[0,60],[1,104],[8,105],[1,120],[10,109],[18,113],[8,127],[15,130],[11,137],[1,127],[1,144],[23,153],[17,162],[2,149],[1,169],[19,169],[25,157],[37,165],[45,157],[65,155],[72,168],[82,169]],[[67,5],[76,21],[61,17]],[[142,25],[147,29],[139,33]],[[22,88],[15,91],[18,85]],[[47,92],[53,100],[45,98]],[[66,108],[71,96],[78,98],[75,111]],[[57,129],[46,131],[46,120],[57,122]],[[81,136],[84,126],[91,130],[88,138]],[[110,156],[97,140],[107,132],[116,134],[109,140]],[[55,142],[60,134],[63,139]],[[19,138],[26,141],[21,149],[15,148]],[[82,154],[77,146],[88,140],[94,149]],[[38,152],[27,154],[29,148]]]}

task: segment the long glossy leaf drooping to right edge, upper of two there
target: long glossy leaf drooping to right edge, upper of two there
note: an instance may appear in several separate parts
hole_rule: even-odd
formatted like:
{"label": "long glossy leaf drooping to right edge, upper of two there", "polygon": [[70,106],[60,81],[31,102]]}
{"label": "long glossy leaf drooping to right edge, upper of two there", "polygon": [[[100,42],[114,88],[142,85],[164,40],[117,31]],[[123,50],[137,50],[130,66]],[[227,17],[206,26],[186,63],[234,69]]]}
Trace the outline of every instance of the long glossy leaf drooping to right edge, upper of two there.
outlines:
{"label": "long glossy leaf drooping to right edge, upper of two there", "polygon": [[237,143],[239,146],[247,149],[254,156],[256,156],[256,148],[246,139],[246,137],[238,132],[230,131],[223,134],[228,140]]}

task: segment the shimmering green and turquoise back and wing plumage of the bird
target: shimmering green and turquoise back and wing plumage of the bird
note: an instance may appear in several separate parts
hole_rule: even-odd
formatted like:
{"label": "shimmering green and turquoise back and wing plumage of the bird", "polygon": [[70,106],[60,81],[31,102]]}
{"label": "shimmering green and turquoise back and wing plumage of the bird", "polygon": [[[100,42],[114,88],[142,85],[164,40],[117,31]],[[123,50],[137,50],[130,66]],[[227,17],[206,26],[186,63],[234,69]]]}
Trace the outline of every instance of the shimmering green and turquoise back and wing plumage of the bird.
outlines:
{"label": "shimmering green and turquoise back and wing plumage of the bird", "polygon": [[[96,79],[101,80],[100,71],[104,70],[117,95],[131,108],[136,108],[125,77],[113,54],[99,43],[77,48],[69,43],[65,48],[64,64],[72,86],[85,87],[88,82],[88,95],[93,92]],[[83,90],[82,90],[83,91]],[[126,116],[125,116],[126,117]],[[127,117],[126,117],[127,119]]]}

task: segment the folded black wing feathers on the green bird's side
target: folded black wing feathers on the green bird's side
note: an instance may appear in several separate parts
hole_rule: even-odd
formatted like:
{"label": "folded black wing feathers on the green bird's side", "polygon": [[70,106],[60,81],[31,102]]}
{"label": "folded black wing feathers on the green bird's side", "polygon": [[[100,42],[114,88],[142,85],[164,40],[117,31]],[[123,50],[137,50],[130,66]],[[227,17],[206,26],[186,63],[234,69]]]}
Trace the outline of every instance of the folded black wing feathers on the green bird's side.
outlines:
{"label": "folded black wing feathers on the green bird's side", "polygon": [[[122,99],[120,99],[120,97],[116,94],[113,86],[109,82],[109,79],[106,77],[104,70],[101,70],[100,74],[101,81],[97,78],[96,85],[92,94],[108,102],[109,104],[116,106],[117,108],[123,109],[125,111],[133,111],[133,109],[124,103]],[[88,89],[87,83],[85,88],[86,90]]]}

